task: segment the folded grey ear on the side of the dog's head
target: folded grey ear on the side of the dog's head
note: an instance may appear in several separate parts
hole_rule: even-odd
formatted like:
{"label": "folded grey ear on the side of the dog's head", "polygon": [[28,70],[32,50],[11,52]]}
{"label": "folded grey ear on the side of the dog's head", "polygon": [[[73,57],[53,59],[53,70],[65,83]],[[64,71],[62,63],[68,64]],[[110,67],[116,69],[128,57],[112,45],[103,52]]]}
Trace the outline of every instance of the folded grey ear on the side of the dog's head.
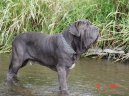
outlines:
{"label": "folded grey ear on the side of the dog's head", "polygon": [[78,24],[79,22],[75,22],[74,24],[72,24],[69,28],[69,32],[72,34],[72,35],[75,35],[77,37],[80,36],[80,32],[78,30]]}

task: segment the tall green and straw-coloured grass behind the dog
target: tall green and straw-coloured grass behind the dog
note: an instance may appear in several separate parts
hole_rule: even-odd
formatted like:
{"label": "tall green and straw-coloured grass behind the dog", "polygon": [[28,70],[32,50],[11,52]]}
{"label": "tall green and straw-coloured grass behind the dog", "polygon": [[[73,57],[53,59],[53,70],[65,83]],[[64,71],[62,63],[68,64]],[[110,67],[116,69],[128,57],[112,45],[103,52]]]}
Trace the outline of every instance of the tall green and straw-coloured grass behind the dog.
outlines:
{"label": "tall green and straw-coloured grass behind the dog", "polygon": [[0,53],[22,32],[55,34],[78,19],[100,28],[99,47],[129,50],[128,0],[1,0]]}

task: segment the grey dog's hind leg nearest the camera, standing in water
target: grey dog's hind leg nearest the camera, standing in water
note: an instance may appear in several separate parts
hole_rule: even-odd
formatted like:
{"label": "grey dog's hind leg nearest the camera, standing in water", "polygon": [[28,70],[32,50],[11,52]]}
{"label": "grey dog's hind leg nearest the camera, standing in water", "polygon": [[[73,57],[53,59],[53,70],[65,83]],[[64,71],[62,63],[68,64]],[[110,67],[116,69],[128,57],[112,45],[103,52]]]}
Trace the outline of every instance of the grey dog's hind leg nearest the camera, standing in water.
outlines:
{"label": "grey dog's hind leg nearest the camera, standing in water", "polygon": [[7,73],[7,83],[16,83],[18,70],[24,65],[24,48],[22,46],[13,46],[12,58]]}

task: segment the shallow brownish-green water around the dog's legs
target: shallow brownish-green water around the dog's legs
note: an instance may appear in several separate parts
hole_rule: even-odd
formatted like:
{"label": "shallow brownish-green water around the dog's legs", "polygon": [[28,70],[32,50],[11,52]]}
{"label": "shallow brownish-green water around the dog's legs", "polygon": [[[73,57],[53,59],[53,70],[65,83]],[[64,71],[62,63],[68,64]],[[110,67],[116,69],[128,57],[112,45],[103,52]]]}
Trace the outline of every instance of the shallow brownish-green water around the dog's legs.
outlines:
{"label": "shallow brownish-green water around the dog's legs", "polygon": [[[5,84],[9,55],[0,55],[0,96],[59,96],[57,74],[39,64],[19,71],[18,86]],[[68,81],[70,96],[129,96],[129,65],[81,58]]]}

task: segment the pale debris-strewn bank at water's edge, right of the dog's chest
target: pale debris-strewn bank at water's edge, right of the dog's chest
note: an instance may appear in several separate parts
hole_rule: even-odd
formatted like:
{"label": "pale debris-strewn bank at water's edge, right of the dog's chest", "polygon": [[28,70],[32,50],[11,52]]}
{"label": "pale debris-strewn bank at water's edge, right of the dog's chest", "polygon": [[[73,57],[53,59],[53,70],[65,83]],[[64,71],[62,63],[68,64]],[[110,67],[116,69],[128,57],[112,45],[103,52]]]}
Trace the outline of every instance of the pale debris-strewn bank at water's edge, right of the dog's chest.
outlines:
{"label": "pale debris-strewn bank at water's edge, right of the dog's chest", "polygon": [[125,52],[122,48],[91,48],[84,54],[84,56],[115,61],[129,61],[129,52]]}

